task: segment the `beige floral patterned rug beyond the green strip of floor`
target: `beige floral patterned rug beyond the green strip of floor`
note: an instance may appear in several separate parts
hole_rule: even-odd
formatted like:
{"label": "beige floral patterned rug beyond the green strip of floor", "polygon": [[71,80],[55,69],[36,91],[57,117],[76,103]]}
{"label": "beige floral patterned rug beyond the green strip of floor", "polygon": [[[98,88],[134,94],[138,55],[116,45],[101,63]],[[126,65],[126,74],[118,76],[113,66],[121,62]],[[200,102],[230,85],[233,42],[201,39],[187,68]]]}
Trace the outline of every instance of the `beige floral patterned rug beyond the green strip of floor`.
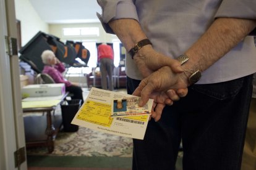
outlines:
{"label": "beige floral patterned rug beyond the green strip of floor", "polygon": [[77,132],[59,132],[53,153],[46,147],[28,148],[27,155],[132,157],[132,139],[113,136],[86,127]]}

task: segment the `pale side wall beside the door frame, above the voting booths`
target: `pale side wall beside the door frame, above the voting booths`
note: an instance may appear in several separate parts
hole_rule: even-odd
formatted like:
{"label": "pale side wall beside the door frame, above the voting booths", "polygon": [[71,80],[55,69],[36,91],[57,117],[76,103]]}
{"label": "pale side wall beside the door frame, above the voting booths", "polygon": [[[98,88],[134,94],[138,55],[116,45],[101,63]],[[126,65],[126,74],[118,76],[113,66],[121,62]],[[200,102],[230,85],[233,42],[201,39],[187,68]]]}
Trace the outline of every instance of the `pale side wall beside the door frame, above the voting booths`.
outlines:
{"label": "pale side wall beside the door frame, above the voting booths", "polygon": [[20,20],[22,46],[38,31],[49,33],[48,24],[41,20],[29,0],[15,0],[15,13],[17,20]]}

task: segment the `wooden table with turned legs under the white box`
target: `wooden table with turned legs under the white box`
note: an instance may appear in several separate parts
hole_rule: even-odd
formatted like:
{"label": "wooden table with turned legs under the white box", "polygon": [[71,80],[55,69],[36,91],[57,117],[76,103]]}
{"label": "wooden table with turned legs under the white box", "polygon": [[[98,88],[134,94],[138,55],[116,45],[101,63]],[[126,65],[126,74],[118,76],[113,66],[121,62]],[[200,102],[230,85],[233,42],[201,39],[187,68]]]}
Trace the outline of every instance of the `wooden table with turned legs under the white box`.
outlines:
{"label": "wooden table with turned legs under the white box", "polygon": [[46,146],[48,147],[49,153],[53,152],[54,139],[58,134],[59,127],[61,126],[61,123],[62,123],[62,118],[61,117],[56,118],[57,117],[56,116],[54,117],[54,122],[53,122],[52,113],[54,112],[56,107],[67,97],[67,95],[68,93],[64,94],[62,99],[59,100],[59,103],[52,107],[23,108],[23,113],[38,113],[38,112],[45,113],[46,112],[46,129],[44,134],[40,134],[40,131],[43,129],[43,127],[45,127],[44,116],[24,117],[25,135],[27,138],[26,147]]}

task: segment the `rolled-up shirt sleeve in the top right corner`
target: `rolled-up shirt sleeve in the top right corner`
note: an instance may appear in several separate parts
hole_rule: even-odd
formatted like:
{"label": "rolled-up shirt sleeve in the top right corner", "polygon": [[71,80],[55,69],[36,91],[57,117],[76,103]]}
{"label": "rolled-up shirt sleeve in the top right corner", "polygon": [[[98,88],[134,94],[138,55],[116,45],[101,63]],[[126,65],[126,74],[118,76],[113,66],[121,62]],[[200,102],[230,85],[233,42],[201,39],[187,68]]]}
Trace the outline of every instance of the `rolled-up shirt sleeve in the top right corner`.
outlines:
{"label": "rolled-up shirt sleeve in the top right corner", "polygon": [[[216,12],[215,18],[245,18],[256,20],[256,1],[255,0],[223,0]],[[250,33],[256,35],[256,29]]]}

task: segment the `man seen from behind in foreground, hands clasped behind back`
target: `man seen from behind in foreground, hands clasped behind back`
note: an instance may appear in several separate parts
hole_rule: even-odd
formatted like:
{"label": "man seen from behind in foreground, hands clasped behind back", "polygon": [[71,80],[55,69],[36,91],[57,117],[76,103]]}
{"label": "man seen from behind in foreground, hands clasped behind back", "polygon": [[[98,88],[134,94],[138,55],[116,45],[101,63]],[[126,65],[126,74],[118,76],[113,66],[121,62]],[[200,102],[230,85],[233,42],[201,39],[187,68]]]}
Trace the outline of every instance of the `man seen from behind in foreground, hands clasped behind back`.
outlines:
{"label": "man seen from behind in foreground, hands clasped behind back", "polygon": [[[128,93],[141,96],[140,106],[155,102],[144,139],[133,139],[132,169],[176,169],[181,139],[184,170],[241,169],[256,72],[247,36],[256,26],[256,1],[98,4],[103,28],[126,47]],[[167,97],[176,102],[163,105],[159,98]]]}

